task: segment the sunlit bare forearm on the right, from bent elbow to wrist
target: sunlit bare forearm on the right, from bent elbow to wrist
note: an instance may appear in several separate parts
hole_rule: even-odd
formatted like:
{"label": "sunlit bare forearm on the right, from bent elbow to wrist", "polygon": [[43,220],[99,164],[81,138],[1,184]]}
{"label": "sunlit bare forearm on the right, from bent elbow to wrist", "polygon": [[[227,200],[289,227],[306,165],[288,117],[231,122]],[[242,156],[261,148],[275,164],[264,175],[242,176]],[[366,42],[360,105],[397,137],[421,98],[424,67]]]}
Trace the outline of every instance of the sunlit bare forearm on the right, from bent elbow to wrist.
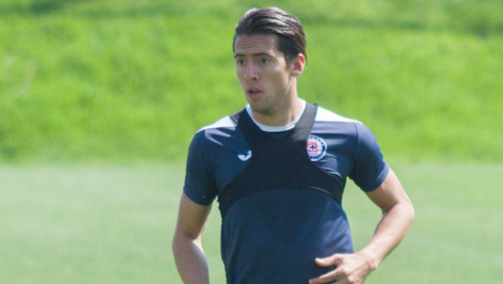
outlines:
{"label": "sunlit bare forearm on the right, from bent elbow to wrist", "polygon": [[372,270],[376,269],[381,261],[398,246],[405,237],[413,219],[414,209],[408,200],[396,203],[383,212],[374,236],[367,246],[359,252],[368,259]]}

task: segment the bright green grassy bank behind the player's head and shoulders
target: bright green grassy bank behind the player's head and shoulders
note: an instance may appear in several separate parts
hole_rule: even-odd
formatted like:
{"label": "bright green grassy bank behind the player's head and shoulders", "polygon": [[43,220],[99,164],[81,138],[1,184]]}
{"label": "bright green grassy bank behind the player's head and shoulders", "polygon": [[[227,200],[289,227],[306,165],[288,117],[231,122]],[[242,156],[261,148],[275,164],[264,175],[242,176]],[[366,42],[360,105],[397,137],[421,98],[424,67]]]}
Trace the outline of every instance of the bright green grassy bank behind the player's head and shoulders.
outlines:
{"label": "bright green grassy bank behind the player's head and shoulders", "polygon": [[300,96],[409,161],[503,160],[503,2],[0,2],[0,162],[182,161],[245,103],[233,27],[250,7],[309,35]]}

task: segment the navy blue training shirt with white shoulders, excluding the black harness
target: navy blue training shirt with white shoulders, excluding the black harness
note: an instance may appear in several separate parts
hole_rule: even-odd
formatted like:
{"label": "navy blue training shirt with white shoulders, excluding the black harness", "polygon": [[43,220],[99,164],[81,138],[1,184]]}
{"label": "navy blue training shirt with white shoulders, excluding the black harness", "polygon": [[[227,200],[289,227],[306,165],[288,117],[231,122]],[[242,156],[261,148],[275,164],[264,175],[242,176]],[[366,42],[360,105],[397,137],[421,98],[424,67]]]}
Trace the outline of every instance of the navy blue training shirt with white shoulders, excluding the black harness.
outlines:
{"label": "navy blue training shirt with white shoulders, excluding the black harness", "polygon": [[[247,110],[250,113],[249,106]],[[281,136],[295,128],[295,122],[285,127],[255,123],[267,134]],[[366,126],[320,107],[305,151],[342,189],[349,177],[362,190],[372,191],[388,174]],[[245,136],[229,116],[203,127],[189,149],[185,194],[210,205],[252,158]],[[341,204],[320,190],[260,190],[234,201],[222,218],[221,253],[228,283],[307,283],[333,269],[318,266],[316,257],[353,252]]]}

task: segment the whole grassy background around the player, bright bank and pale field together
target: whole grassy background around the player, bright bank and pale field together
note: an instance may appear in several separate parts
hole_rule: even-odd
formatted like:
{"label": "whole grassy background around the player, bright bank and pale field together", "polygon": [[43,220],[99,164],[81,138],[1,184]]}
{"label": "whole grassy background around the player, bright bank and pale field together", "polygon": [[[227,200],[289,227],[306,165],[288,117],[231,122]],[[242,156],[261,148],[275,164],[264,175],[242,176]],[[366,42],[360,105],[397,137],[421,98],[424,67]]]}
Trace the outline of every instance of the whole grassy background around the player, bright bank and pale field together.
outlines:
{"label": "whole grassy background around the player, bright bank and pale field together", "polygon": [[[503,280],[503,2],[0,0],[0,282],[180,282],[187,148],[244,106],[233,27],[267,6],[309,36],[300,95],[368,125],[414,201],[368,282]],[[362,198],[357,248],[378,221]]]}

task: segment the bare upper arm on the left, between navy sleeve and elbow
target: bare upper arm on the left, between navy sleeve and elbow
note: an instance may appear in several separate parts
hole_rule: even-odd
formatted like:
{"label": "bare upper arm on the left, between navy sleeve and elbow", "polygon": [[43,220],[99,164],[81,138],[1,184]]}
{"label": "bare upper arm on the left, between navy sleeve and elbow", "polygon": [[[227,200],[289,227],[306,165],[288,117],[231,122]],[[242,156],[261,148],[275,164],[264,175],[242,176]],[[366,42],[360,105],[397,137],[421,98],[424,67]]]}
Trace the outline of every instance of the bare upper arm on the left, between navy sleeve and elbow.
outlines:
{"label": "bare upper arm on the left, between navy sleeve and elbow", "polygon": [[210,211],[211,205],[197,204],[185,192],[182,193],[175,234],[183,234],[191,239],[199,238],[203,233]]}

